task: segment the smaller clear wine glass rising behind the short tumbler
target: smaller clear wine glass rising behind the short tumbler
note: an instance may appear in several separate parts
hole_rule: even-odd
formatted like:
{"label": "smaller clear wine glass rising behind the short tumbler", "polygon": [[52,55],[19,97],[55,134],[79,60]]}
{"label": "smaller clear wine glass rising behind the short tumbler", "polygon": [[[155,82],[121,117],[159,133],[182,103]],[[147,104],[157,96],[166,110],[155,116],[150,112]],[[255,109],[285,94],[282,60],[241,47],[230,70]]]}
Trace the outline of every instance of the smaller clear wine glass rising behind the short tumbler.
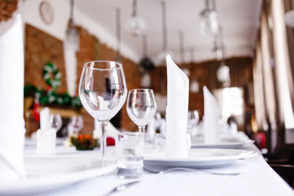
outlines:
{"label": "smaller clear wine glass rising behind the short tumbler", "polygon": [[151,89],[132,89],[128,93],[126,112],[138,125],[140,132],[145,132],[146,125],[156,113],[156,102]]}

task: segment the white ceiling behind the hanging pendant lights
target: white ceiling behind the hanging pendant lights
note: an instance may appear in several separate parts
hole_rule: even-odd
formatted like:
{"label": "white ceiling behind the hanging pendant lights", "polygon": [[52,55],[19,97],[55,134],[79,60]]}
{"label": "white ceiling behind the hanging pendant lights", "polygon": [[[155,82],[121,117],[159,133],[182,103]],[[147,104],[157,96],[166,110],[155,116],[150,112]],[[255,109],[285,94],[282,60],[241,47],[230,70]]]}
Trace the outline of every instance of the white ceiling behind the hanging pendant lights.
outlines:
{"label": "white ceiling behind the hanging pendant lights", "polygon": [[[219,24],[223,28],[226,56],[252,55],[259,26],[262,0],[216,0]],[[179,30],[184,32],[185,61],[212,59],[213,36],[199,33],[199,12],[204,0],[166,0],[168,48],[179,59]],[[142,56],[142,38],[131,37],[125,30],[132,0],[75,0],[75,7],[115,36],[115,8],[121,8],[122,41]],[[162,48],[161,0],[138,0],[138,15],[146,21],[148,55],[156,60]]]}

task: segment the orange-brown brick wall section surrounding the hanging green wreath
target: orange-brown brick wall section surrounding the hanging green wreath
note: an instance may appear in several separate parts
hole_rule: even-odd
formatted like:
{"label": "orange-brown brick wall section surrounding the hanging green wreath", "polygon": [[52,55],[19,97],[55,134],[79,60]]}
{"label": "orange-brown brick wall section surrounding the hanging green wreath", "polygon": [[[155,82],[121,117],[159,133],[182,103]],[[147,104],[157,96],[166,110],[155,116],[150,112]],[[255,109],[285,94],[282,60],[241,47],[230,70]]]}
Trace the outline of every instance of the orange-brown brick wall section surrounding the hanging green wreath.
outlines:
{"label": "orange-brown brick wall section surrounding the hanging green wreath", "polygon": [[42,77],[43,66],[47,62],[55,63],[61,73],[61,86],[56,92],[66,92],[63,42],[34,26],[25,24],[25,85],[36,84],[42,89],[47,88]]}

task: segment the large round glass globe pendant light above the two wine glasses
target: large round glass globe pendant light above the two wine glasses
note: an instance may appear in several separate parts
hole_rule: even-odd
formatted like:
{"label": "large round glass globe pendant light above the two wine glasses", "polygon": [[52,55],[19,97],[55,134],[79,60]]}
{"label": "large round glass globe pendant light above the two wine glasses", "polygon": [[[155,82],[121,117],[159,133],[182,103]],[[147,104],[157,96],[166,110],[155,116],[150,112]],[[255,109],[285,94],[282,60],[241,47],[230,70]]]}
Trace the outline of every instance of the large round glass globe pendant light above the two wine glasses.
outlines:
{"label": "large round glass globe pendant light above the two wine glasses", "polygon": [[137,15],[137,0],[133,0],[133,11],[131,18],[126,23],[126,30],[134,37],[143,34],[146,30],[145,21]]}

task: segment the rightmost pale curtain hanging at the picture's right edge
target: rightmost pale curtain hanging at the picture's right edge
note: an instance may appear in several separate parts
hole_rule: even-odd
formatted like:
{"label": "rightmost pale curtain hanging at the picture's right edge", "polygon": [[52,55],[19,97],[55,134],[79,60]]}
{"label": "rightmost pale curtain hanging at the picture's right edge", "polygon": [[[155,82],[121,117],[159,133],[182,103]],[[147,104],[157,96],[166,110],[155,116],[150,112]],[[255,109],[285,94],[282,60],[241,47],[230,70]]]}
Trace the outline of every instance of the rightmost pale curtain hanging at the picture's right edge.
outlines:
{"label": "rightmost pale curtain hanging at the picture's right edge", "polygon": [[[279,108],[277,114],[279,126],[283,127],[285,117],[289,118],[289,115],[285,112],[290,109],[292,110],[290,114],[293,115],[292,105],[294,103],[294,84],[287,45],[286,25],[284,19],[284,0],[272,0],[270,4],[270,11],[273,24],[273,51],[275,60],[277,104]],[[281,140],[284,139],[281,138]],[[283,143],[284,141],[280,142]]]}

